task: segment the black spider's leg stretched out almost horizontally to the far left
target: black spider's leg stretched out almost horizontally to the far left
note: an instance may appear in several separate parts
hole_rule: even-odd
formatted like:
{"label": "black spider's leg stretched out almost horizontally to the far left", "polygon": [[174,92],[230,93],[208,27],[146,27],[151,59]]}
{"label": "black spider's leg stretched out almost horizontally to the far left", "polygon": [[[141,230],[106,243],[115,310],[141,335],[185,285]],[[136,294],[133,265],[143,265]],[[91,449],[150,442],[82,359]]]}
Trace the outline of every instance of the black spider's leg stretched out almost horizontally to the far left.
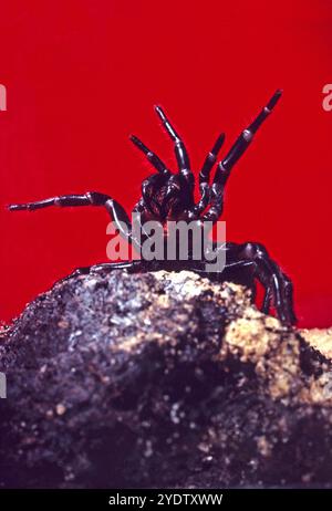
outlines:
{"label": "black spider's leg stretched out almost horizontally to the far left", "polygon": [[[121,234],[135,248],[141,247],[139,241],[133,236],[132,223],[124,208],[112,197],[97,191],[87,191],[83,195],[64,195],[37,202],[14,204],[9,206],[10,211],[34,211],[37,209],[49,208],[50,206],[71,207],[71,206],[101,206],[106,209],[114,220]],[[124,227],[125,226],[125,227]]]}

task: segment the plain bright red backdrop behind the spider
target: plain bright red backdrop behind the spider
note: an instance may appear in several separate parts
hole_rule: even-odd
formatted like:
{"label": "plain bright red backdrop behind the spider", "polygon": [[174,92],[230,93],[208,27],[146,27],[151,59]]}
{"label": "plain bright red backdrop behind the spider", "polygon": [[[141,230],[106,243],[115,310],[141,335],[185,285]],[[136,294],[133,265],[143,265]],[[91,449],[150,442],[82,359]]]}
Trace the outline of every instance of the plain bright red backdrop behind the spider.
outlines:
{"label": "plain bright red backdrop behind the spider", "polygon": [[135,133],[167,163],[160,103],[197,169],[277,87],[282,101],[234,170],[224,219],[292,277],[301,325],[332,324],[332,82],[329,0],[30,0],[1,2],[1,312],[77,265],[105,260],[103,210],[10,213],[4,205],[98,190],[129,210],[151,169]]}

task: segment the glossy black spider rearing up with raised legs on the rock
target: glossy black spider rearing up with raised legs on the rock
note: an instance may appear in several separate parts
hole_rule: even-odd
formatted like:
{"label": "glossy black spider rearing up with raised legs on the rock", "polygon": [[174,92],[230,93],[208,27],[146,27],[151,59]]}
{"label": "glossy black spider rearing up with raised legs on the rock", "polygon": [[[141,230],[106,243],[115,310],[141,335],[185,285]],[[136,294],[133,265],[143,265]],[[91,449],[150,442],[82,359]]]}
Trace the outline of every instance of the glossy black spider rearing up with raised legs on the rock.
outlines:
{"label": "glossy black spider rearing up with raised legs on the rock", "polygon": [[[190,169],[186,147],[163,109],[156,106],[156,113],[167,134],[174,142],[178,173],[172,174],[155,153],[149,150],[137,137],[131,137],[135,146],[145,154],[146,158],[158,171],[158,174],[154,174],[143,181],[142,198],[133,209],[133,212],[138,213],[141,226],[151,219],[157,219],[163,223],[169,219],[185,221],[197,220],[199,222],[209,220],[215,223],[222,212],[224,189],[231,168],[250,145],[255,133],[269,116],[280,96],[281,91],[277,91],[267,106],[241,133],[226,157],[218,163],[215,177],[210,185],[210,173],[222,146],[225,135],[221,134],[217,138],[199,173],[200,198],[198,202],[195,202],[194,199],[195,178]],[[142,240],[144,241],[144,228],[142,228],[143,238],[139,242],[135,237],[132,223],[124,208],[116,200],[104,194],[90,191],[83,195],[66,195],[37,202],[11,205],[9,209],[12,211],[25,209],[37,210],[49,206],[102,206],[106,208],[127,241],[138,250],[142,247],[141,242]],[[122,228],[121,222],[126,226],[126,229]],[[227,242],[221,246],[221,250],[226,251],[226,267],[222,272],[217,273],[206,272],[206,260],[193,260],[189,258],[189,260],[177,259],[175,261],[147,261],[141,259],[125,262],[102,263],[90,268],[79,268],[74,274],[89,273],[92,269],[95,271],[128,269],[128,271],[133,272],[191,270],[211,280],[217,280],[218,282],[230,280],[236,283],[246,284],[253,290],[253,298],[256,295],[256,280],[258,280],[264,288],[262,311],[269,313],[271,305],[273,305],[277,315],[282,322],[286,324],[295,323],[292,283],[280,270],[279,265],[270,259],[263,246],[255,242],[241,244]]]}

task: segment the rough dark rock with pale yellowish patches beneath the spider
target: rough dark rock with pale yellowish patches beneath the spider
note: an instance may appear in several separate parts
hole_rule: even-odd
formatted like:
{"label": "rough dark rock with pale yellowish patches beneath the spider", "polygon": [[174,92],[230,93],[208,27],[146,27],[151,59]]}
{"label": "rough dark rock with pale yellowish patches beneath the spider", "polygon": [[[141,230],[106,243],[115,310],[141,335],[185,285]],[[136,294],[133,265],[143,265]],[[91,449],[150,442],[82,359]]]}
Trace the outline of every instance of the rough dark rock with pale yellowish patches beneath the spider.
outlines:
{"label": "rough dark rock with pale yellowish patches beneath the spider", "polygon": [[330,486],[330,362],[194,273],[56,284],[0,341],[0,484]]}

